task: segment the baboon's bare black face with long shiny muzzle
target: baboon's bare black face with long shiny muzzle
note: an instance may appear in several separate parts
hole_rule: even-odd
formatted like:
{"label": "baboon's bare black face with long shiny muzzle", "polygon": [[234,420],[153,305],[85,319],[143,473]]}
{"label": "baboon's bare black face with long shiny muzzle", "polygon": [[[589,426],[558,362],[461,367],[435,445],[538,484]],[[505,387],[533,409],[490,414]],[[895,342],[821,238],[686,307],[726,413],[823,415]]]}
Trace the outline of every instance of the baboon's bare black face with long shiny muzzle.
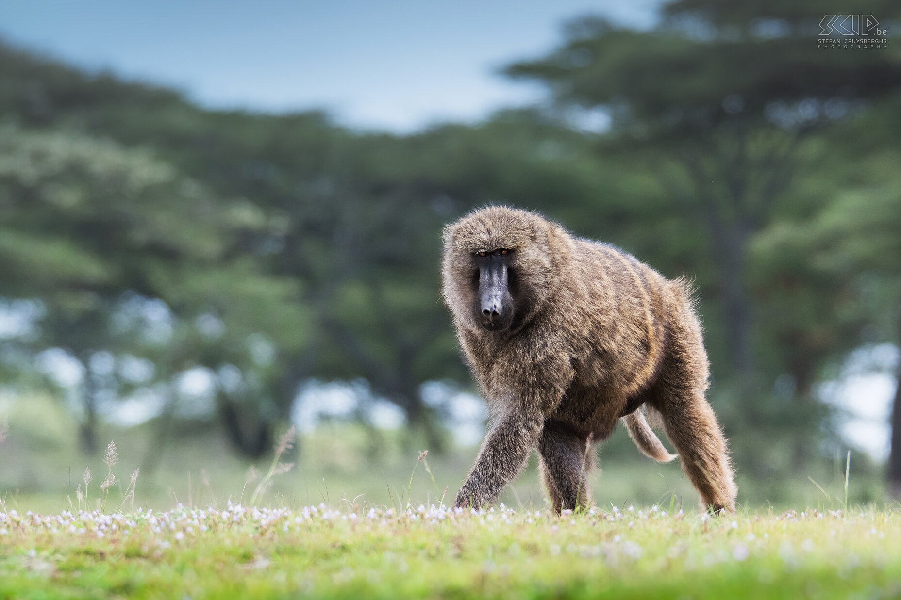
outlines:
{"label": "baboon's bare black face with long shiny muzzle", "polygon": [[[499,332],[513,323],[516,303],[511,287],[516,275],[511,266],[513,250],[483,250],[473,255],[473,284],[478,285],[473,305],[475,320],[491,332]],[[513,284],[513,285],[511,285]]]}

